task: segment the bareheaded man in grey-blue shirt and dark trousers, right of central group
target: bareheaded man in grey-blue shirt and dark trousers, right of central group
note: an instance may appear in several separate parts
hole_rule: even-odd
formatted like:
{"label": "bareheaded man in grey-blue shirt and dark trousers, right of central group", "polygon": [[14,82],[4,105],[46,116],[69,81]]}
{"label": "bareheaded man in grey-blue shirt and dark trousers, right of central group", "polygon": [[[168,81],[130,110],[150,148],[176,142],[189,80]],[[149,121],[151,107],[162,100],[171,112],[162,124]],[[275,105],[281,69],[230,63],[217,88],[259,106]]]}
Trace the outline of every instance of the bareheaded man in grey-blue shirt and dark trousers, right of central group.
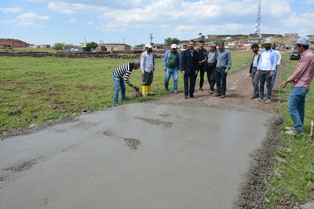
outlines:
{"label": "bareheaded man in grey-blue shirt and dark trousers, right of central group", "polygon": [[213,96],[225,98],[227,89],[227,73],[231,69],[231,53],[225,48],[223,41],[218,42],[217,65],[215,70],[215,80],[217,93]]}

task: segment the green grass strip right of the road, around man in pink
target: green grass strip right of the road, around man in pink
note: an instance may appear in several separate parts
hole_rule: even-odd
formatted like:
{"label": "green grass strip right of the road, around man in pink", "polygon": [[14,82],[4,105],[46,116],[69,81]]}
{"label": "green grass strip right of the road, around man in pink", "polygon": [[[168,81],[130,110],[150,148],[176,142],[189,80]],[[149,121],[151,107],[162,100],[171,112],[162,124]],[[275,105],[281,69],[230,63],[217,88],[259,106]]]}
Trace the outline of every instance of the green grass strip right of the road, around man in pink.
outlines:
{"label": "green grass strip right of the road, around man in pink", "polygon": [[[281,82],[286,81],[296,69],[297,61],[290,61],[288,54],[282,56]],[[280,79],[277,75],[276,79]],[[304,134],[302,136],[287,136],[282,135],[285,147],[290,147],[291,152],[278,149],[277,155],[284,158],[288,163],[279,164],[274,161],[274,169],[279,166],[279,170],[283,174],[283,178],[275,176],[274,183],[270,186],[265,202],[270,209],[276,209],[277,205],[285,197],[294,197],[295,202],[305,204],[314,201],[314,140],[310,137],[311,121],[314,120],[314,103],[313,103],[313,87],[312,82],[310,92],[306,97],[306,112],[304,121]],[[285,124],[281,127],[284,131],[285,126],[292,127],[293,121],[287,111],[288,95],[292,89],[292,84],[289,83],[286,88],[280,89],[280,98],[282,103],[279,105],[280,114],[285,119]],[[267,182],[271,182],[274,177],[272,175]]]}

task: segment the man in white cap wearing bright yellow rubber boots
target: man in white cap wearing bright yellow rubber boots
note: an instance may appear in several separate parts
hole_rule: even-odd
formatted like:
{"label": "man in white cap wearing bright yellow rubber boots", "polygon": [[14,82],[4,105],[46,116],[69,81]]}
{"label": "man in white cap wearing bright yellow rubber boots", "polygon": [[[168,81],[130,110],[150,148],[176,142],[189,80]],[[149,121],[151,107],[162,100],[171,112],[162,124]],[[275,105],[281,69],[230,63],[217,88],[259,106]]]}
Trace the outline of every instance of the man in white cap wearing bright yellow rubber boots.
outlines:
{"label": "man in white cap wearing bright yellow rubber boots", "polygon": [[142,92],[143,96],[153,95],[151,85],[154,78],[154,70],[156,68],[155,55],[150,44],[145,45],[145,51],[141,55],[141,71],[142,71]]}

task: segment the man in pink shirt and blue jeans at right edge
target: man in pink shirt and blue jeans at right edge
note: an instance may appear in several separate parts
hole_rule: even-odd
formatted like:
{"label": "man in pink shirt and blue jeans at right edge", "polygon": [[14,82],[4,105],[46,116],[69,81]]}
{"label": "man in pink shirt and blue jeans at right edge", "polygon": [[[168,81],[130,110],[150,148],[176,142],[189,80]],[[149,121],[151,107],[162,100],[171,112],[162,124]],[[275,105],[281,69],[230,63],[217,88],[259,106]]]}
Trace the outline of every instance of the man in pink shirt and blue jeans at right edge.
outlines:
{"label": "man in pink shirt and blue jeans at right edge", "polygon": [[289,82],[293,82],[289,96],[287,109],[293,120],[293,127],[286,127],[288,135],[298,135],[303,133],[305,115],[305,96],[310,91],[310,85],[314,76],[314,54],[309,50],[309,38],[301,37],[296,44],[296,50],[300,53],[296,70],[292,76],[280,85],[285,88]]}

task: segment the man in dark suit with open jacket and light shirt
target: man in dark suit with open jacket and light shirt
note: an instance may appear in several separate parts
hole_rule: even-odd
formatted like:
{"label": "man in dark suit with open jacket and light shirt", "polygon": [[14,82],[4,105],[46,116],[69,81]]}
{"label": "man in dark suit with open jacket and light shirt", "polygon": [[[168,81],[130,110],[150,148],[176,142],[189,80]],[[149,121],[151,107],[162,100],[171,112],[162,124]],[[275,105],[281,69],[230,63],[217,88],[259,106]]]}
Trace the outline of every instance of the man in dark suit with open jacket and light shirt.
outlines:
{"label": "man in dark suit with open jacket and light shirt", "polygon": [[[184,75],[184,99],[190,94],[191,98],[194,96],[195,75],[198,73],[198,51],[194,50],[195,41],[189,42],[189,48],[183,51],[182,54],[182,73]],[[190,89],[188,89],[188,80],[190,80]]]}

